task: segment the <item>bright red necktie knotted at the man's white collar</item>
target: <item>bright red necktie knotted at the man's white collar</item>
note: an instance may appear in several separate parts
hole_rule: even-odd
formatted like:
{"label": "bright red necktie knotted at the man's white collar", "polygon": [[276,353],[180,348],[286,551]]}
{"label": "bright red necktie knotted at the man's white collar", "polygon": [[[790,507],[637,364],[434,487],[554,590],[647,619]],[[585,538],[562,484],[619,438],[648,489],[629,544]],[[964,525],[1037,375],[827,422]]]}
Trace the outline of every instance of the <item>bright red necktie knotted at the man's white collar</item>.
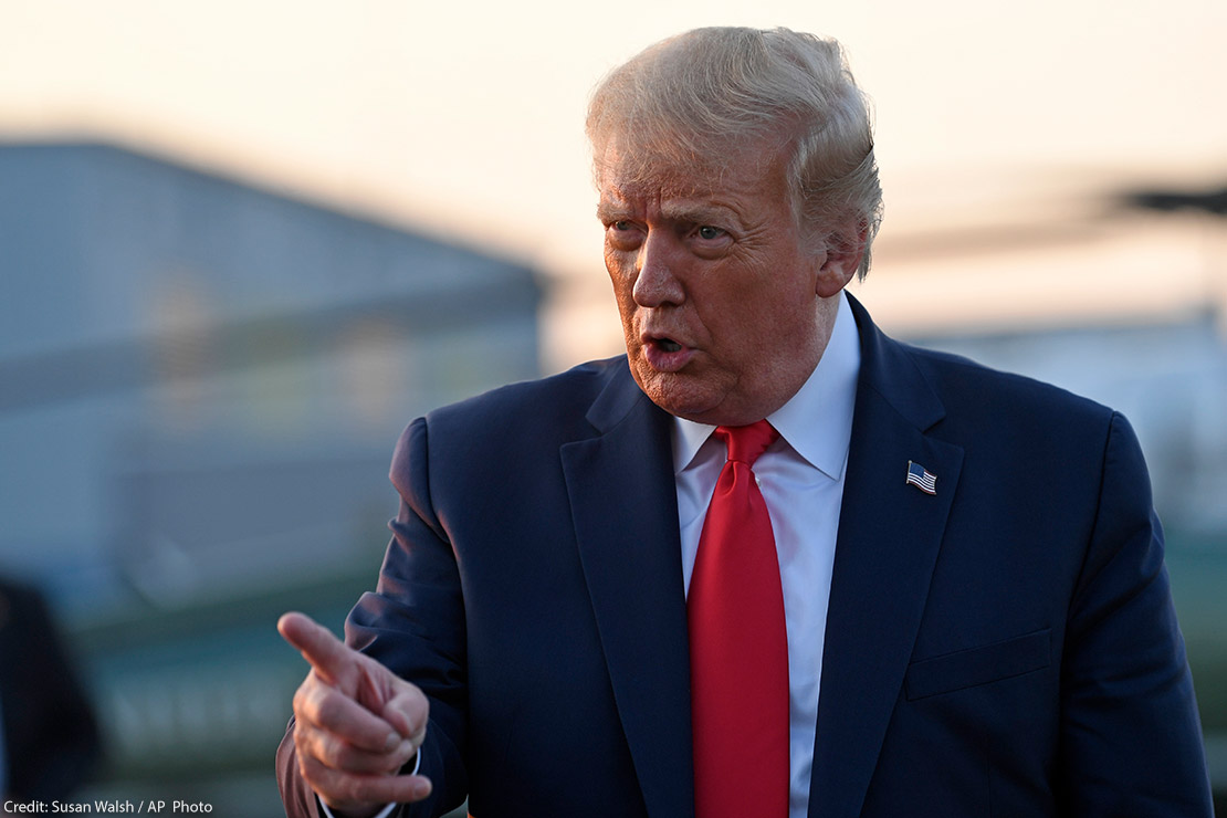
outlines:
{"label": "bright red necktie knotted at the man's white collar", "polygon": [[691,574],[697,818],[788,816],[788,635],[775,537],[751,466],[779,433],[718,427],[715,482]]}

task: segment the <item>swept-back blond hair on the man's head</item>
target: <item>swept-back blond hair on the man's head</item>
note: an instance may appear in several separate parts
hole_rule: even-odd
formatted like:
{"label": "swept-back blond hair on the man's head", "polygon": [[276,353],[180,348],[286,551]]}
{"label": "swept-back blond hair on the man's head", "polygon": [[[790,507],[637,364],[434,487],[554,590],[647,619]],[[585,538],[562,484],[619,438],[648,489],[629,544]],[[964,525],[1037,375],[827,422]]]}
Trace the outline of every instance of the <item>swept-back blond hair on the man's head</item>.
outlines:
{"label": "swept-back blond hair on the man's head", "polygon": [[[766,142],[784,161],[793,212],[811,234],[847,224],[865,235],[869,271],[881,222],[869,103],[843,48],[788,28],[697,28],[611,71],[588,108],[594,173],[607,148],[640,174],[719,168],[730,147]],[[632,170],[634,173],[634,170]]]}

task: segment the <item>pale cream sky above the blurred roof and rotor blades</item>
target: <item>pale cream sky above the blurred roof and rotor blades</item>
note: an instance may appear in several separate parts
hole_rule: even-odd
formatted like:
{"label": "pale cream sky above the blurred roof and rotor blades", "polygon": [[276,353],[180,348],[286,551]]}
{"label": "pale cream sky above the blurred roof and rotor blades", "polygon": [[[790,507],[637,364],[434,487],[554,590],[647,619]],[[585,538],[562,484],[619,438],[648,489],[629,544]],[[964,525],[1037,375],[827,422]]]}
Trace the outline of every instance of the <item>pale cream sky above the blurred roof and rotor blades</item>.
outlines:
{"label": "pale cream sky above the blurred roof and rotor blades", "polygon": [[1221,0],[0,0],[0,140],[118,141],[591,281],[588,94],[703,25],[844,44],[882,245],[1045,191],[1227,178]]}

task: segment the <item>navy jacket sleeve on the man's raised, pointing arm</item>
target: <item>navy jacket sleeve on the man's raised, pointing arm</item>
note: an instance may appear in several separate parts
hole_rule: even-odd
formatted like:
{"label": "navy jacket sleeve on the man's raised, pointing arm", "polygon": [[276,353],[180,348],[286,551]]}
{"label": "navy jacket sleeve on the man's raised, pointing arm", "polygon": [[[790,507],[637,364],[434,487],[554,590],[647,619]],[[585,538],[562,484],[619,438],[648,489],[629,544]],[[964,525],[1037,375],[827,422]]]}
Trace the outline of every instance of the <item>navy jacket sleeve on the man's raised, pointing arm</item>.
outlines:
{"label": "navy jacket sleeve on the man's raised, pointing arm", "polygon": [[[467,795],[464,736],[467,722],[464,601],[455,553],[431,503],[427,423],[405,430],[393,456],[391,482],[401,495],[389,522],[391,543],[374,592],[362,595],[345,623],[345,641],[422,689],[431,704],[418,774],[431,795],[395,816],[427,818],[458,807]],[[319,818],[302,780],[293,722],[277,751],[277,782],[288,818]]]}

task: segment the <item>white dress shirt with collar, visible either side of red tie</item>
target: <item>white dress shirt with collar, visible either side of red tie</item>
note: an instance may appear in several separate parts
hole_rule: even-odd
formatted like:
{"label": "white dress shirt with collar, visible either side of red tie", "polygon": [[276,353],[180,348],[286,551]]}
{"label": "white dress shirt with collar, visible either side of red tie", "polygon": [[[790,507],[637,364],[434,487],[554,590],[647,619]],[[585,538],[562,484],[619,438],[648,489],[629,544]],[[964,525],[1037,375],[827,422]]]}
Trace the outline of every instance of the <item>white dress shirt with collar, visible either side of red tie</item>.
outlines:
{"label": "white dress shirt with collar, visible either side of red tie", "polygon": [[[859,372],[856,323],[842,297],[822,359],[800,391],[767,418],[780,439],[753,466],[771,514],[784,587],[789,818],[805,818],[809,811],[827,602]],[[674,421],[682,576],[688,594],[703,519],[726,454],[724,443],[712,437],[714,426]]]}

